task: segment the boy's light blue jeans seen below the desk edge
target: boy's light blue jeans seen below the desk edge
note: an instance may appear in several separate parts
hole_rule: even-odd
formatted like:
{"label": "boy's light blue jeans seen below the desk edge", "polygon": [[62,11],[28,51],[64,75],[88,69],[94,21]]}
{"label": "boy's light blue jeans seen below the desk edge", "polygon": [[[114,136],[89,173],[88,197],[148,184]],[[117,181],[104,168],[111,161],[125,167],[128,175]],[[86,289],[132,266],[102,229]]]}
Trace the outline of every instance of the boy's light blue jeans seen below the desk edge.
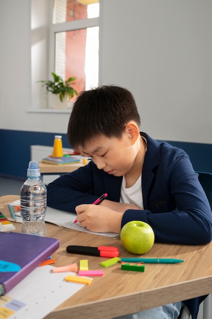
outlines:
{"label": "boy's light blue jeans seen below the desk edge", "polygon": [[174,304],[168,304],[133,314],[116,317],[114,319],[177,319],[182,306],[183,304],[181,302],[176,302]]}

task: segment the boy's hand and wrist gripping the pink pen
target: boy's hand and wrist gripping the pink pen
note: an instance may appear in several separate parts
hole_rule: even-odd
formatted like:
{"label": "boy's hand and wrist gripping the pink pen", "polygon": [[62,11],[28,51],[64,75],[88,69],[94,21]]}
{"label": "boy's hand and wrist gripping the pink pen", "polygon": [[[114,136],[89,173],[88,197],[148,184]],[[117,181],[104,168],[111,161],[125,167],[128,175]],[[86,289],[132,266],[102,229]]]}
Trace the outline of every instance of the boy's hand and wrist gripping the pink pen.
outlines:
{"label": "boy's hand and wrist gripping the pink pen", "polygon": [[94,232],[120,233],[122,212],[104,205],[82,204],[76,206],[77,221],[82,227]]}

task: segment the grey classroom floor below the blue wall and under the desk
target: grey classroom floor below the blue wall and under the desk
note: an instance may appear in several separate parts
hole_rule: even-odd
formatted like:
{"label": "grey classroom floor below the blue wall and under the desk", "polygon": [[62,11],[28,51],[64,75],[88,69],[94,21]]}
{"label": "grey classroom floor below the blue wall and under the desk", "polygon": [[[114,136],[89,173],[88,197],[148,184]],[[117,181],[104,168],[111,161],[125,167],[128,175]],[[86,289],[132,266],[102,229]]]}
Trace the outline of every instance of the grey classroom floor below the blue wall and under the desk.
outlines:
{"label": "grey classroom floor below the blue wall and under the desk", "polygon": [[[20,188],[23,182],[24,181],[0,177],[0,197],[4,195],[20,195]],[[210,305],[210,313],[212,314],[212,301]],[[197,319],[203,319],[202,304],[200,305]]]}

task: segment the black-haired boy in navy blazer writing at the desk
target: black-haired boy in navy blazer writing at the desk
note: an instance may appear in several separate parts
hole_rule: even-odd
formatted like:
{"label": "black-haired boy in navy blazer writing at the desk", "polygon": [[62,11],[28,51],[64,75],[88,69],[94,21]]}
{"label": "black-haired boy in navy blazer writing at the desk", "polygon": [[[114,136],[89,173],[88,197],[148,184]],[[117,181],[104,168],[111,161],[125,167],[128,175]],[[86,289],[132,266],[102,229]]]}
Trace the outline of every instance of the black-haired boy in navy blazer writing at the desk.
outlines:
{"label": "black-haired boy in navy blazer writing at the desk", "polygon": [[[50,183],[48,205],[76,210],[81,226],[94,232],[119,233],[127,222],[141,220],[152,226],[156,242],[209,243],[212,214],[189,156],[139,126],[128,90],[102,86],[83,92],[70,116],[68,139],[92,161]],[[104,193],[107,198],[93,205]],[[193,319],[202,299],[184,302]],[[177,318],[180,308],[176,303],[125,317]]]}

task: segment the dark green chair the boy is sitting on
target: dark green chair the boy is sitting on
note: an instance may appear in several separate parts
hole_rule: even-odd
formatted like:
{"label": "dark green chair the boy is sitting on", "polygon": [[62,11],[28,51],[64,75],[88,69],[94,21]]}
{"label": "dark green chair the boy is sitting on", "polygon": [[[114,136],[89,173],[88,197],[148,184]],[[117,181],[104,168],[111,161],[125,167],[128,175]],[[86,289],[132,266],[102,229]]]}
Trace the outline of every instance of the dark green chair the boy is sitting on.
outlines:
{"label": "dark green chair the boy is sitting on", "polygon": [[[207,196],[212,211],[212,174],[206,172],[196,172],[199,174],[198,178],[202,188]],[[180,319],[189,319],[190,312],[186,306],[184,306]],[[203,301],[203,319],[210,319],[210,295]]]}

